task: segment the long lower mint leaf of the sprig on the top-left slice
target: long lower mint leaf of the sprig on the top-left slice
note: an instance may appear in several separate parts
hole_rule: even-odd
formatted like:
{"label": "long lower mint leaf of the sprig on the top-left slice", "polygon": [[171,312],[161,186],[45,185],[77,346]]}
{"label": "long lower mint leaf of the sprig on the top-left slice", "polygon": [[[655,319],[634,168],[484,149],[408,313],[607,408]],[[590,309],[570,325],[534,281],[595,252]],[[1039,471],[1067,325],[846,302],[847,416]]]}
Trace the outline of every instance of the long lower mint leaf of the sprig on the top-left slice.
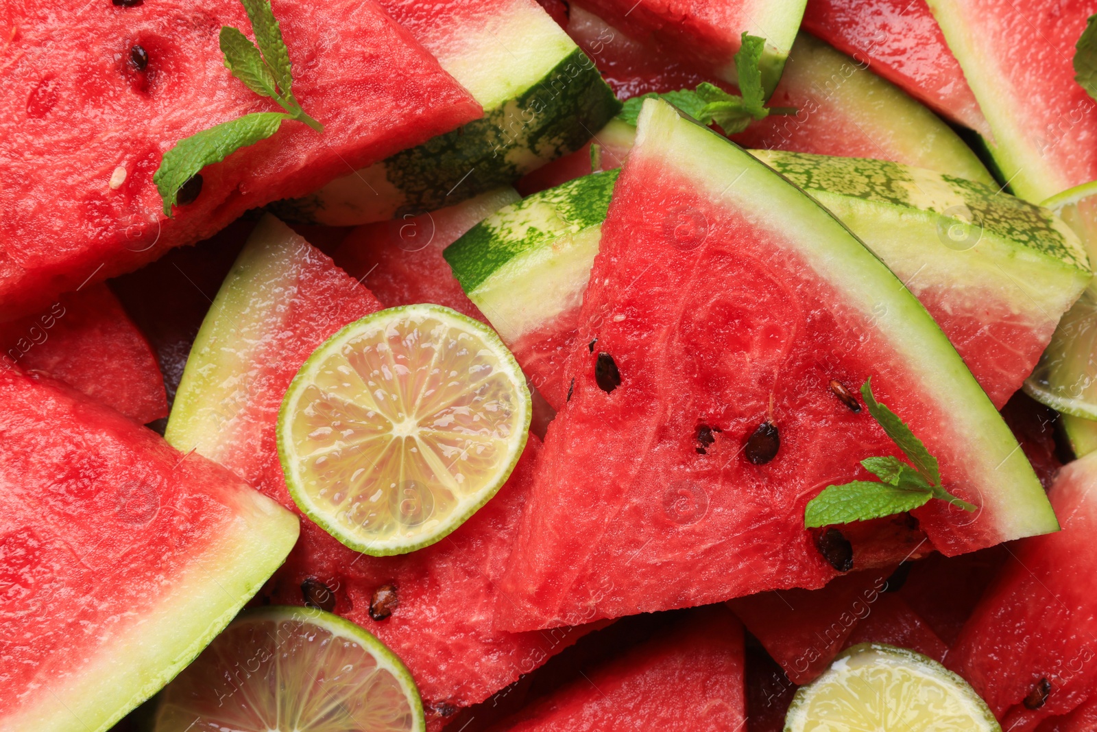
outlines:
{"label": "long lower mint leaf of the sprig on the top-left slice", "polygon": [[183,183],[207,165],[220,162],[241,147],[267,139],[292,119],[281,112],[257,112],[203,129],[184,137],[163,154],[160,167],[152,176],[156,190],[163,199],[163,213],[171,216],[171,206]]}

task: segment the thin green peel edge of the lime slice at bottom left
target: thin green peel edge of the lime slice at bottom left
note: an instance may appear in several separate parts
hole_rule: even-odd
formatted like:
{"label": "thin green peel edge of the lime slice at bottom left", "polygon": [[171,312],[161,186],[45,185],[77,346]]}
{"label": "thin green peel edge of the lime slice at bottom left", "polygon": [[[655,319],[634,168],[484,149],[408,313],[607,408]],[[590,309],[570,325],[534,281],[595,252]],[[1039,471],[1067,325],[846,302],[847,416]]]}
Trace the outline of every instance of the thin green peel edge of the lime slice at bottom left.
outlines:
{"label": "thin green peel edge of the lime slice at bottom left", "polygon": [[[382,643],[370,631],[332,612],[293,605],[270,605],[245,610],[233,620],[231,624],[256,621],[270,621],[274,623],[297,622],[302,626],[318,626],[336,638],[358,643],[376,660],[378,667],[391,673],[404,689],[406,697],[411,703],[412,729],[410,732],[426,731],[427,722],[422,708],[422,699],[419,696],[419,687],[411,677],[411,672],[408,671],[407,666],[404,665],[404,662],[400,661],[399,656],[392,649]],[[159,719],[157,719],[156,723],[159,723]],[[156,732],[156,730],[157,728],[154,727],[152,732]]]}

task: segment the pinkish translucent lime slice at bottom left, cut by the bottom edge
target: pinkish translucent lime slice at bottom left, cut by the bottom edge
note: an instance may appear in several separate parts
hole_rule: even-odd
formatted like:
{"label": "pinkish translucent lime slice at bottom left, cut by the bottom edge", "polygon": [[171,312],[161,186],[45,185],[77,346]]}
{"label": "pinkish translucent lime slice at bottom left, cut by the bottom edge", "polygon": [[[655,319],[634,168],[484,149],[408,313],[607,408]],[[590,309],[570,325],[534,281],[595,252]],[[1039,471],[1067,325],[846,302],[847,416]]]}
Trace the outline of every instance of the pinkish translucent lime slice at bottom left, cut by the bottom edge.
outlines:
{"label": "pinkish translucent lime slice at bottom left, cut by the bottom edge", "polygon": [[155,732],[422,732],[411,675],[376,638],[310,608],[241,613],[160,694]]}

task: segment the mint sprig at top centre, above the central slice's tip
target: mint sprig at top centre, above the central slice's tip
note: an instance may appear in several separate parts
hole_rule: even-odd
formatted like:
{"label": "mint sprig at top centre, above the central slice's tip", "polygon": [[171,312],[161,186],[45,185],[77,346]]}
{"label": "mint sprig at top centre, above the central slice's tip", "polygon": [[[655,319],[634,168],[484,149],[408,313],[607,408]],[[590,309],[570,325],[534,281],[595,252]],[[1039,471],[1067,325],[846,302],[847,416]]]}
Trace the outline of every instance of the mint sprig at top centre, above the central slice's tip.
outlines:
{"label": "mint sprig at top centre, above the central slice's tip", "polygon": [[635,125],[645,99],[661,99],[682,113],[708,126],[717,124],[728,135],[746,129],[751,122],[770,114],[795,114],[790,108],[767,108],[766,90],[761,83],[761,55],[766,40],[743,34],[743,43],[735,54],[742,95],[730,94],[720,87],[702,81],[697,89],[680,89],[663,93],[648,92],[625,100],[617,119]]}

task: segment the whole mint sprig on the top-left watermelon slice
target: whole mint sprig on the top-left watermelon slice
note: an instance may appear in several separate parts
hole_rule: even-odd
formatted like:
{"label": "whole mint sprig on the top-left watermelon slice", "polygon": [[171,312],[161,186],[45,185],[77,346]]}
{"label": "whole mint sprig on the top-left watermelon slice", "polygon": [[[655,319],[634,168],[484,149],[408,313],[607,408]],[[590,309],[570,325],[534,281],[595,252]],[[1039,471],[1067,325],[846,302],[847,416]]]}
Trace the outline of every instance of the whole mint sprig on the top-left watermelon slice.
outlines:
{"label": "whole mint sprig on the top-left watermelon slice", "polygon": [[251,21],[256,43],[239,29],[220,29],[220,53],[225,68],[260,97],[269,97],[285,110],[282,112],[255,112],[223,122],[207,129],[184,137],[163,154],[152,182],[163,199],[163,213],[171,216],[179,189],[207,165],[220,162],[229,155],[267,139],[285,120],[303,122],[316,132],[324,125],[310,117],[293,95],[293,69],[290,54],[282,40],[282,29],[274,18],[270,0],[240,0]]}

